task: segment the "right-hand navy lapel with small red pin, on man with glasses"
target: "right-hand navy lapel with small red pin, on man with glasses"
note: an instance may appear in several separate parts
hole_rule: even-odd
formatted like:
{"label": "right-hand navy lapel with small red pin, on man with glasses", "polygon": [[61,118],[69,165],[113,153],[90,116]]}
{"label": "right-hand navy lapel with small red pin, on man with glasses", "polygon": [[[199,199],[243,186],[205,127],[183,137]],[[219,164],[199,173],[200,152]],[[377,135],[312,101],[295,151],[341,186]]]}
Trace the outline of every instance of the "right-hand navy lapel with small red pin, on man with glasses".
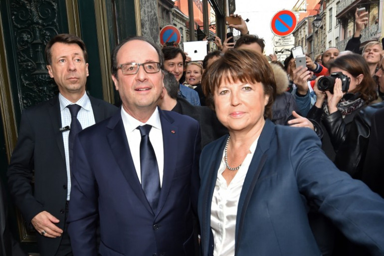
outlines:
{"label": "right-hand navy lapel with small red pin, on man with glasses", "polygon": [[163,171],[163,184],[160,190],[159,205],[156,215],[158,215],[167,200],[168,193],[171,189],[172,180],[175,176],[176,162],[178,155],[179,145],[179,127],[174,125],[174,120],[166,115],[160,108],[160,122],[162,125],[163,133],[163,148],[164,148],[164,171]]}

